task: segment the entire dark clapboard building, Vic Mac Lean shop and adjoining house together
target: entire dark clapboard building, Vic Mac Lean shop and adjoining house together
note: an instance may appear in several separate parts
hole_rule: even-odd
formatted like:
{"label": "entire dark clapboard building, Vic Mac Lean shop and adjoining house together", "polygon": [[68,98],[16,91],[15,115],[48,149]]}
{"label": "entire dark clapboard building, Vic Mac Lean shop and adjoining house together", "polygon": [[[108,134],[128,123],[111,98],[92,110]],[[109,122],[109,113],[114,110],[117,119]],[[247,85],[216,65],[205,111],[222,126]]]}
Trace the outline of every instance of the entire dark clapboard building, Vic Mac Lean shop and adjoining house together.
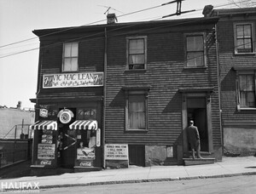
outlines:
{"label": "entire dark clapboard building, Vic Mac Lean shop and adjoining house together", "polygon": [[189,119],[221,160],[218,18],[33,31],[40,39],[33,168],[171,165]]}

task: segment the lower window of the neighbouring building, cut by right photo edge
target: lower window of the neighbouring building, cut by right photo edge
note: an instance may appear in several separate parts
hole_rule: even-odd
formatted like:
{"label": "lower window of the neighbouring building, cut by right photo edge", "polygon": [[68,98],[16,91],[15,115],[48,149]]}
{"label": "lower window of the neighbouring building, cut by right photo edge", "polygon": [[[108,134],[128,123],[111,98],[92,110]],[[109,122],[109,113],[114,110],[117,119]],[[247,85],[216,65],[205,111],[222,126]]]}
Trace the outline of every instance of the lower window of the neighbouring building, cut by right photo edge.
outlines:
{"label": "lower window of the neighbouring building, cut by right photo edge", "polygon": [[237,96],[238,107],[256,108],[255,106],[255,72],[238,71],[237,73]]}

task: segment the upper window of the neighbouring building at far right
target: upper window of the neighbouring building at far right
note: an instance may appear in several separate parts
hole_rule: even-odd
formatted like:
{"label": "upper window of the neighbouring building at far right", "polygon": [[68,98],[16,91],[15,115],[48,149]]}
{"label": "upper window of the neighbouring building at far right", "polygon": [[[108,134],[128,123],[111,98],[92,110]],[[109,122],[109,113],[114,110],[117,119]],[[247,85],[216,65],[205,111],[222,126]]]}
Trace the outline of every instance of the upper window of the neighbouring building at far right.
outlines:
{"label": "upper window of the neighbouring building at far right", "polygon": [[234,37],[236,54],[247,54],[254,52],[252,24],[236,24]]}

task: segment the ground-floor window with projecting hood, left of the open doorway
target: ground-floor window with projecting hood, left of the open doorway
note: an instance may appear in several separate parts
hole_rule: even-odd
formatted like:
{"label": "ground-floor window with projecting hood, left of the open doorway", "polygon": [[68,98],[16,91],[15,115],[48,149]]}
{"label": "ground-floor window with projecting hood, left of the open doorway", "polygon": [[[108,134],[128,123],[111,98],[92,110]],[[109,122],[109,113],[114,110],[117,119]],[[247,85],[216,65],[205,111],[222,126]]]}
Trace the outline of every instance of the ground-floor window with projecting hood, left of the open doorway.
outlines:
{"label": "ground-floor window with projecting hood, left of the open doorway", "polygon": [[145,90],[126,91],[125,126],[126,130],[147,130],[148,94]]}

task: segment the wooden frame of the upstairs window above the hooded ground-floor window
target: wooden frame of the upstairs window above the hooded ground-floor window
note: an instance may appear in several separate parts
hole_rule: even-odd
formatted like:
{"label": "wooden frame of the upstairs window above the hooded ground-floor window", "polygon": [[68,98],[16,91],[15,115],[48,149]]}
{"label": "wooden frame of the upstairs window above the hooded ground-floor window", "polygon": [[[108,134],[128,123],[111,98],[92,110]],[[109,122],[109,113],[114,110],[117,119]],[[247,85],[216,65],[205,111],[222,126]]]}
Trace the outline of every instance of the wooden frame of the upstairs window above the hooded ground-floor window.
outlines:
{"label": "wooden frame of the upstairs window above the hooded ground-floor window", "polygon": [[[130,40],[143,39],[144,40],[144,68],[143,69],[130,69],[129,56],[130,56]],[[126,70],[127,71],[145,71],[147,69],[147,61],[148,61],[148,37],[147,36],[136,36],[136,37],[126,37]],[[136,64],[135,64],[136,65]]]}

